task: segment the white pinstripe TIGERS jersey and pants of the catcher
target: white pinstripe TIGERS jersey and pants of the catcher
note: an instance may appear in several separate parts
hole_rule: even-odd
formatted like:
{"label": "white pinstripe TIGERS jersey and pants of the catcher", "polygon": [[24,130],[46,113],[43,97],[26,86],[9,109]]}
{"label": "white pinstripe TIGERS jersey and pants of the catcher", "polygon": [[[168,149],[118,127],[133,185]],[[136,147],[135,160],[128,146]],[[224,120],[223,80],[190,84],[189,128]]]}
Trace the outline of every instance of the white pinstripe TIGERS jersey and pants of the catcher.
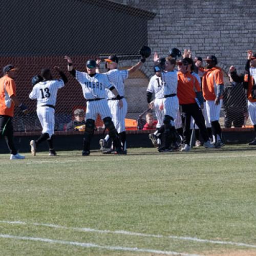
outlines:
{"label": "white pinstripe TIGERS jersey and pants of the catcher", "polygon": [[[96,120],[97,115],[103,120],[105,117],[111,117],[108,102],[105,99],[105,89],[110,89],[112,84],[105,74],[96,73],[90,76],[85,72],[76,70],[76,79],[81,84],[83,97],[87,99],[86,119]],[[99,99],[90,101],[92,99]]]}

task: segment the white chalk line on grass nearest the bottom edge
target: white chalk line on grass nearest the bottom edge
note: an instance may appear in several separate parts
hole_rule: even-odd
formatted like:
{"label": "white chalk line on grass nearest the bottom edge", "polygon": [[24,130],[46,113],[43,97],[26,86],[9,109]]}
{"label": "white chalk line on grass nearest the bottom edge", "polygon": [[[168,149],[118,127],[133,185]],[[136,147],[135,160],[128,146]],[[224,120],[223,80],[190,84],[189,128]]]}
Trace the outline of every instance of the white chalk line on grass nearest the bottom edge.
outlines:
{"label": "white chalk line on grass nearest the bottom edge", "polygon": [[45,242],[51,244],[62,244],[62,245],[73,245],[73,246],[80,246],[86,248],[99,248],[99,249],[106,249],[106,250],[118,250],[118,251],[133,251],[133,252],[149,252],[149,253],[158,253],[158,254],[167,254],[167,255],[182,255],[182,256],[199,256],[199,254],[187,254],[187,253],[180,253],[176,251],[161,251],[161,250],[154,250],[154,249],[146,249],[146,248],[137,248],[137,247],[122,247],[122,246],[105,246],[105,245],[98,245],[92,243],[80,243],[74,241],[65,241],[65,240],[52,240],[48,238],[34,238],[34,237],[19,237],[19,236],[12,236],[10,234],[1,234],[0,238],[11,238],[11,239],[18,239],[18,240],[29,240],[29,241],[36,241],[36,242]]}

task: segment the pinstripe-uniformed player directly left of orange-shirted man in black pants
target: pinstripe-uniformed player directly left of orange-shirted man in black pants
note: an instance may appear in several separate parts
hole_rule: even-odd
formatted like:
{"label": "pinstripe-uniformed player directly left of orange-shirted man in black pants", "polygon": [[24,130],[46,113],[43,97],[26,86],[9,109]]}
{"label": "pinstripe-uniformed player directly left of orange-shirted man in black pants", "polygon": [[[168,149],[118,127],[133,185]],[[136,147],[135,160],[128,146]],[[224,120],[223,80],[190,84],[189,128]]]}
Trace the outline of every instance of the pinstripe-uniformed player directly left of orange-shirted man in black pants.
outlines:
{"label": "pinstripe-uniformed player directly left of orange-shirted man in black pants", "polygon": [[[170,64],[175,67],[176,60],[170,60]],[[172,63],[172,61],[174,61]],[[174,120],[177,117],[177,112],[179,109],[179,100],[177,97],[177,72],[163,72],[165,69],[165,58],[159,58],[154,65],[156,72],[161,72],[161,79],[163,84],[163,125],[164,125],[164,146],[159,148],[159,152],[170,152],[173,150],[170,147],[172,142],[176,142],[177,132],[175,130]]]}

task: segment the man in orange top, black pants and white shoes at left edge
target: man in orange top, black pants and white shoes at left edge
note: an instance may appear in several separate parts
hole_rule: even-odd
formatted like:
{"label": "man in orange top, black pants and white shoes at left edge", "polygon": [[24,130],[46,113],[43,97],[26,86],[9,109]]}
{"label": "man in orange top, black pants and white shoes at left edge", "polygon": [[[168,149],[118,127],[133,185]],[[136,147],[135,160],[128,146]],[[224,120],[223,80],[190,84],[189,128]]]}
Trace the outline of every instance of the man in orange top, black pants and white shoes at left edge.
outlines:
{"label": "man in orange top, black pants and white shoes at left edge", "polygon": [[24,114],[27,114],[27,106],[20,103],[16,96],[15,78],[17,71],[13,65],[7,65],[3,69],[4,76],[0,78],[0,138],[5,137],[6,144],[10,150],[11,160],[24,159],[19,155],[13,142],[14,106],[19,106]]}

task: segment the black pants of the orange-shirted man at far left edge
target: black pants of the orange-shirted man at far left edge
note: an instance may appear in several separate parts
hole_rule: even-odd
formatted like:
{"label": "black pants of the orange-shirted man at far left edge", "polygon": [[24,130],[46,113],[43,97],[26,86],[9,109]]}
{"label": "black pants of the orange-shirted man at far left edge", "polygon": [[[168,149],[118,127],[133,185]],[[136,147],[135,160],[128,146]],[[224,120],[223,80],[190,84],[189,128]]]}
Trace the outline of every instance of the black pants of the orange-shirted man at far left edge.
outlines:
{"label": "black pants of the orange-shirted man at far left edge", "polygon": [[13,142],[12,117],[0,115],[0,138],[5,137],[11,154],[16,155],[17,150]]}

